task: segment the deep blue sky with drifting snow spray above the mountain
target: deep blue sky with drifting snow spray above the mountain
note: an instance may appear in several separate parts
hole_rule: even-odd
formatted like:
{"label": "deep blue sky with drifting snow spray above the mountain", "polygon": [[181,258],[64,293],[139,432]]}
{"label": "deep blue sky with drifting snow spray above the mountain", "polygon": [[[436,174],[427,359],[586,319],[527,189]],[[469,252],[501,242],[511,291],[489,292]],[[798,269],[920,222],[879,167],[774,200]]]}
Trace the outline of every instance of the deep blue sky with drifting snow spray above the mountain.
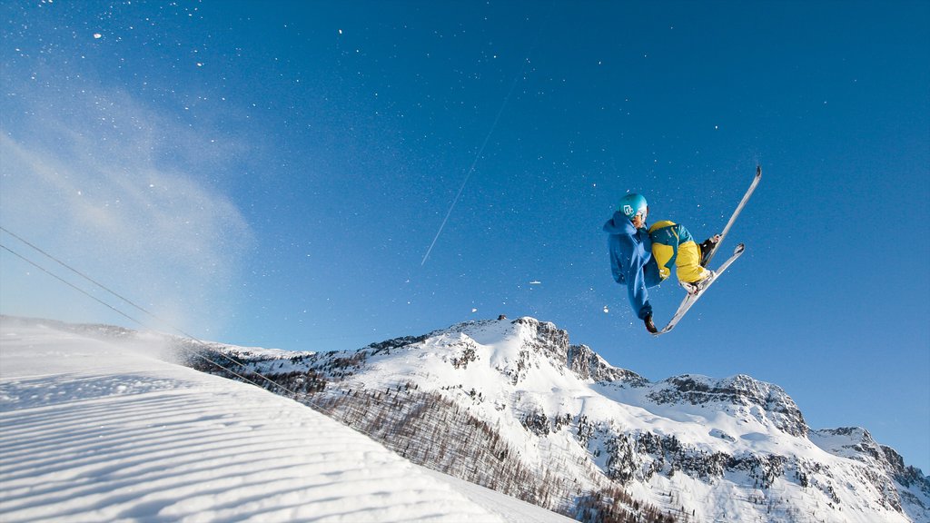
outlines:
{"label": "deep blue sky with drifting snow spray above the mountain", "polygon": [[[0,223],[173,326],[324,351],[532,315],[651,380],[775,382],[930,472],[927,2],[0,12]],[[610,277],[619,197],[703,239],[757,164],[747,253],[648,336]],[[138,327],[0,262],[4,314]]]}

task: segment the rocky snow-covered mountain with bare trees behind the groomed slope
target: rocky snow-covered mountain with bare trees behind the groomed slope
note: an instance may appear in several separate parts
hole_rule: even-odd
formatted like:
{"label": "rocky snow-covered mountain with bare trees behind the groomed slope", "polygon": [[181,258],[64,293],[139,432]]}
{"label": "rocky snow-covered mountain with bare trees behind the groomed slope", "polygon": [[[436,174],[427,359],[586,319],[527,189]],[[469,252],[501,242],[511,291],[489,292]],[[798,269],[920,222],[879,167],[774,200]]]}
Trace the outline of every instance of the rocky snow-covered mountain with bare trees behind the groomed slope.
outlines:
{"label": "rocky snow-covered mountain with bare trees behind the groomed slope", "polygon": [[745,375],[649,382],[529,317],[357,351],[183,349],[414,463],[581,520],[930,521],[930,479],[865,429],[811,430],[784,390]]}

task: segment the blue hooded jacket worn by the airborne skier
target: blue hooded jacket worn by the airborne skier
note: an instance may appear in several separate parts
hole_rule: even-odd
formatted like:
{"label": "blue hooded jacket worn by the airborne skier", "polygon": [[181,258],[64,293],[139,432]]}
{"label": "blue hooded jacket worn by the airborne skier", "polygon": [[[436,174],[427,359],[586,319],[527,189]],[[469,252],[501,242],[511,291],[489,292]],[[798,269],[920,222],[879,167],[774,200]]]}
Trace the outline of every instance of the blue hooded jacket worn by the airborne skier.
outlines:
{"label": "blue hooded jacket worn by the airborne skier", "polygon": [[658,264],[652,258],[652,240],[645,229],[637,230],[630,219],[617,211],[604,223],[607,247],[610,249],[610,268],[614,279],[627,286],[630,305],[637,317],[644,319],[652,314],[648,287],[661,281]]}

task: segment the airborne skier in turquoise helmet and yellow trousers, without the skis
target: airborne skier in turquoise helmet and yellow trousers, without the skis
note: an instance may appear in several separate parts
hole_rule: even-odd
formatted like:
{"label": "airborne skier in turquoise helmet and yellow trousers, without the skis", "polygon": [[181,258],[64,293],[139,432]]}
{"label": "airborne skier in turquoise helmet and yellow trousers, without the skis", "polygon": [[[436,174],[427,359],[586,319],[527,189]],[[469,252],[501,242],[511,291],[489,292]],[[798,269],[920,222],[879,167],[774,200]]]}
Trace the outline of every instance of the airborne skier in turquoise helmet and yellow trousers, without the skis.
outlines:
{"label": "airborne skier in turquoise helmet and yellow trousers, without the skis", "polygon": [[620,199],[619,209],[604,223],[610,250],[610,268],[614,279],[627,286],[633,312],[643,320],[646,330],[658,332],[652,320],[652,305],[647,288],[655,287],[671,275],[671,266],[689,293],[699,290],[701,283],[711,281],[713,273],[701,262],[718,241],[715,235],[697,246],[683,225],[658,221],[646,230],[649,206],[641,194],[627,194]]}

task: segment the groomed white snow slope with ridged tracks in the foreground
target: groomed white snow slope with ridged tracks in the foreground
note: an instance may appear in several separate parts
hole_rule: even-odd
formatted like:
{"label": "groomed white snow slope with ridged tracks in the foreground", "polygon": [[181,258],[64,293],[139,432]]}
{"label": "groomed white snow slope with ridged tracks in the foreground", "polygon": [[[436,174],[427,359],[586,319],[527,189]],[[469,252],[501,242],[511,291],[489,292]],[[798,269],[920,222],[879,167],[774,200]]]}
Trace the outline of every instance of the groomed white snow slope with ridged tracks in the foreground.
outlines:
{"label": "groomed white snow slope with ridged tracks in the foreground", "polygon": [[161,340],[0,323],[0,520],[570,521],[171,363]]}

